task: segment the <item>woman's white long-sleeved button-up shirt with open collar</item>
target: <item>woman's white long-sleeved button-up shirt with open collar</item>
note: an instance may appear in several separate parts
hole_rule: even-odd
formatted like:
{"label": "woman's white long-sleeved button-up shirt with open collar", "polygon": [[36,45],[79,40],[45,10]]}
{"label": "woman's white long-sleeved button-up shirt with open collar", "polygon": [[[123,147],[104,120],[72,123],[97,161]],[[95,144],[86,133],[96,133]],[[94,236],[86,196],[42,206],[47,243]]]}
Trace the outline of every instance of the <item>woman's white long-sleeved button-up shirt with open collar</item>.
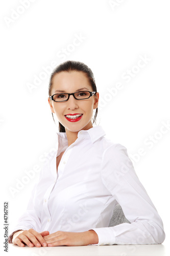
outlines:
{"label": "woman's white long-sleeved button-up shirt with open collar", "polygon": [[[107,139],[101,126],[80,131],[70,146],[65,133],[57,134],[56,153],[44,164],[28,209],[15,230],[53,233],[93,229],[99,237],[96,245],[162,243],[162,220],[126,147]],[[56,157],[63,151],[57,172]],[[117,203],[130,223],[108,227]]]}

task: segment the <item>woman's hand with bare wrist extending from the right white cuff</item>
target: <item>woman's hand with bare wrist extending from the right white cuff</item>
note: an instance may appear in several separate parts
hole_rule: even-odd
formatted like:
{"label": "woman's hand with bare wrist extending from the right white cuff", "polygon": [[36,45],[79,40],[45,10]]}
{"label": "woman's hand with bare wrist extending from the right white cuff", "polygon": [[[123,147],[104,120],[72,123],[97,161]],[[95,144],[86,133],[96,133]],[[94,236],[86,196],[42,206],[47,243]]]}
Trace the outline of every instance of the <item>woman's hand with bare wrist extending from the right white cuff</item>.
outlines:
{"label": "woman's hand with bare wrist extending from the right white cuff", "polygon": [[85,232],[65,232],[57,231],[43,237],[47,246],[81,246],[88,244],[98,244],[98,234],[94,230]]}

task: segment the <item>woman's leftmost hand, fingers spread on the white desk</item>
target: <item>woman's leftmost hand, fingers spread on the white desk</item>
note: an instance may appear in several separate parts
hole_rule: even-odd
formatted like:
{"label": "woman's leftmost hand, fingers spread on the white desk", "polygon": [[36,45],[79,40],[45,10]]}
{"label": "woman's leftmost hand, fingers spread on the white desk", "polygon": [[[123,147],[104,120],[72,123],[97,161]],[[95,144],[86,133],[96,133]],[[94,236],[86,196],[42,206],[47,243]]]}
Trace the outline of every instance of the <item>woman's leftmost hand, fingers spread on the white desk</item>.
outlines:
{"label": "woman's leftmost hand, fingers spread on the white desk", "polygon": [[16,238],[14,239],[13,244],[20,247],[25,246],[25,244],[29,247],[41,247],[41,245],[45,247],[47,246],[47,243],[43,239],[43,236],[47,236],[48,234],[48,231],[38,233],[32,228],[29,230],[23,230],[23,232],[21,233],[18,232],[18,236],[16,236]]}

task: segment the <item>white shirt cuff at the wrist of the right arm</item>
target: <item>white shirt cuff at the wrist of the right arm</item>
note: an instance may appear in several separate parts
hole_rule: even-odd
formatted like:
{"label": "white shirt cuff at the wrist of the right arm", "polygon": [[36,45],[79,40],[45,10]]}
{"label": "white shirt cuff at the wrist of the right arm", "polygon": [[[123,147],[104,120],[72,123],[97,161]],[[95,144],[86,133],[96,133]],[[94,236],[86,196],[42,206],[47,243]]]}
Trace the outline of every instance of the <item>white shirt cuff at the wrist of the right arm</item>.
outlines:
{"label": "white shirt cuff at the wrist of the right arm", "polygon": [[115,244],[114,231],[110,227],[91,228],[99,237],[99,243],[95,245],[113,245]]}

